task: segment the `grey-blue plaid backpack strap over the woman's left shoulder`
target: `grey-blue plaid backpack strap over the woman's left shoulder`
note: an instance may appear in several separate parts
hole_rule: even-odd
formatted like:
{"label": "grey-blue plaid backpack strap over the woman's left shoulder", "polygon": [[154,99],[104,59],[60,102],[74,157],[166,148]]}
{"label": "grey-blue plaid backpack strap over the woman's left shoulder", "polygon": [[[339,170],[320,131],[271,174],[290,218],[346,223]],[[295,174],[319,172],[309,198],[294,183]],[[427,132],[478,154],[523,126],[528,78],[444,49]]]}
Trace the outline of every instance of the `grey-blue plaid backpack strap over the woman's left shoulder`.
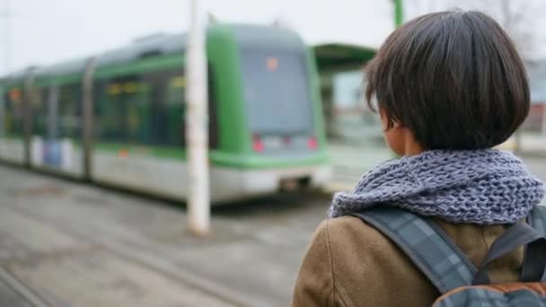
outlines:
{"label": "grey-blue plaid backpack strap over the woman's left shoulder", "polygon": [[353,215],[398,245],[442,294],[472,285],[477,269],[447,234],[427,218],[394,207],[375,207]]}

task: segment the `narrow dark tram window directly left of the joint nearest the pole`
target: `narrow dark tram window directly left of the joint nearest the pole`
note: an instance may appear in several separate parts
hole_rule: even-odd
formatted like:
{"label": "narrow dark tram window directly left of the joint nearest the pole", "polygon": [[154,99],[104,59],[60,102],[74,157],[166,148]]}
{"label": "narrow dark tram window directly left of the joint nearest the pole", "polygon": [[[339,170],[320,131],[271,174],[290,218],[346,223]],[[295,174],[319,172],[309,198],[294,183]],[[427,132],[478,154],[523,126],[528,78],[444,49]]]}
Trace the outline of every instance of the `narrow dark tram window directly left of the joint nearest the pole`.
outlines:
{"label": "narrow dark tram window directly left of the joint nearest the pole", "polygon": [[58,88],[58,136],[82,136],[82,85],[75,83]]}

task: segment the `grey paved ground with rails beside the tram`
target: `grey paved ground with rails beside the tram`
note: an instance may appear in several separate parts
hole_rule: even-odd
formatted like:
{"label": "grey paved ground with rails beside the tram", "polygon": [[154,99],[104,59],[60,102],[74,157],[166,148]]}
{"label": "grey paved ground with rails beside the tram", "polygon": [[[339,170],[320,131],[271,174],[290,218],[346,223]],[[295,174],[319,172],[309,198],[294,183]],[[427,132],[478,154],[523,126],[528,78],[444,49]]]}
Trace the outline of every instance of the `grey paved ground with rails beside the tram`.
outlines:
{"label": "grey paved ground with rails beside the tram", "polygon": [[[388,152],[332,146],[332,185],[353,186]],[[546,159],[525,158],[546,180]],[[0,165],[0,306],[283,306],[329,195],[184,208]]]}

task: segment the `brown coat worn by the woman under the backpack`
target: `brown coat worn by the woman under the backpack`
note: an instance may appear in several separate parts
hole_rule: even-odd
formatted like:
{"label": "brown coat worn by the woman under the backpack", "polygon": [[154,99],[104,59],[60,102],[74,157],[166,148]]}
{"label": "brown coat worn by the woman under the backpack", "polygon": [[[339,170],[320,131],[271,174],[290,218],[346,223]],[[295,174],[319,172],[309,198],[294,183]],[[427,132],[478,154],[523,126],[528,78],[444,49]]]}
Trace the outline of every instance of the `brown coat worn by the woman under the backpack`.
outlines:
{"label": "brown coat worn by the woman under the backpack", "polygon": [[[502,225],[436,220],[477,267]],[[492,282],[515,282],[523,249],[489,266]],[[397,246],[357,217],[321,223],[297,277],[293,306],[430,306],[440,294]]]}

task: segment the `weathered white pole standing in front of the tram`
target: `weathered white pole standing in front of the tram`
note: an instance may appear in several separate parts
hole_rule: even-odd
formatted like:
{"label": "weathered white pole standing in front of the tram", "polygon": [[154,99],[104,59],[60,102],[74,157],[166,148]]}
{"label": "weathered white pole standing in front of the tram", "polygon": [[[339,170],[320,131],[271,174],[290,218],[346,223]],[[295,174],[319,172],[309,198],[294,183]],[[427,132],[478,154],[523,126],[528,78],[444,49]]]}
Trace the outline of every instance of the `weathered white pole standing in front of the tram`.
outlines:
{"label": "weathered white pole standing in front of the tram", "polygon": [[200,21],[198,0],[190,0],[190,6],[186,53],[188,218],[189,231],[204,236],[210,232],[206,31]]}

